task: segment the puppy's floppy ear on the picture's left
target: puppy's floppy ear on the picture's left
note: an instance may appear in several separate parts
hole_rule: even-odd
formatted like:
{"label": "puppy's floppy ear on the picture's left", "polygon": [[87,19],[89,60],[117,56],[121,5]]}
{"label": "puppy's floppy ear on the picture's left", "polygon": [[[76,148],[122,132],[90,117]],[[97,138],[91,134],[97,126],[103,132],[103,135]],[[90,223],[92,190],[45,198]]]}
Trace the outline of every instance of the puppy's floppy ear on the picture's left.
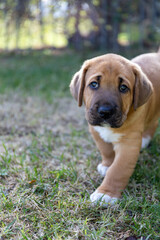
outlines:
{"label": "puppy's floppy ear on the picture's left", "polygon": [[75,73],[70,83],[72,96],[77,100],[78,106],[82,106],[83,92],[85,87],[85,75],[88,70],[88,61],[84,62],[81,69]]}

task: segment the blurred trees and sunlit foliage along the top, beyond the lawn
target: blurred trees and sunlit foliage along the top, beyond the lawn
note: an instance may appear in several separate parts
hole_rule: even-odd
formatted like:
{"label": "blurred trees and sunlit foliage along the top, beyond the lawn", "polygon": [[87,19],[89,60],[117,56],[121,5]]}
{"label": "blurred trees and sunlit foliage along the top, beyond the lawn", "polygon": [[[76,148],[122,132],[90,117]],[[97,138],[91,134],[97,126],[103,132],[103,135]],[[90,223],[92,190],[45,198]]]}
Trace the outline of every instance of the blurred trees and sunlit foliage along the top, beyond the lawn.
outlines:
{"label": "blurred trees and sunlit foliage along the top, beyond the lawn", "polygon": [[0,49],[156,49],[159,0],[0,0]]}

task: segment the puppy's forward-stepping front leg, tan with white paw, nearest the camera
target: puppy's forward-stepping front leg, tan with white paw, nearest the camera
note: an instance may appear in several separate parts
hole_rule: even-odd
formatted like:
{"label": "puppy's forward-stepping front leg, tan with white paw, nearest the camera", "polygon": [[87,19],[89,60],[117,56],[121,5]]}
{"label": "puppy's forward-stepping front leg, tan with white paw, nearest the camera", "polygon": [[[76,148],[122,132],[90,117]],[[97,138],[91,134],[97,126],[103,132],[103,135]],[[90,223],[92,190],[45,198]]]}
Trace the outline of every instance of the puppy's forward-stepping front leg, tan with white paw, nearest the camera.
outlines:
{"label": "puppy's forward-stepping front leg, tan with white paw, nearest the camera", "polygon": [[125,189],[130,176],[132,175],[138,159],[142,136],[134,134],[134,137],[123,139],[114,144],[115,159],[102,184],[91,195],[91,201],[100,202],[100,205],[106,207],[108,203],[114,204]]}

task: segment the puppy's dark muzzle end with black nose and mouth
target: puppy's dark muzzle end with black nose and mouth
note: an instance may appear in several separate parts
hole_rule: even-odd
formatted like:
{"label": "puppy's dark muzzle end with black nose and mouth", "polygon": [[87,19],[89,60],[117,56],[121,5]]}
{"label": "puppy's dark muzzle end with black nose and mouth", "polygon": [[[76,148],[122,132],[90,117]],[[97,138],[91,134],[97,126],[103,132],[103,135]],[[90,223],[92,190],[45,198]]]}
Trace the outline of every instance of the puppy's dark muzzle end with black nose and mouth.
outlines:
{"label": "puppy's dark muzzle end with black nose and mouth", "polygon": [[118,107],[101,106],[86,111],[86,119],[92,126],[109,125],[111,128],[120,128],[126,118]]}

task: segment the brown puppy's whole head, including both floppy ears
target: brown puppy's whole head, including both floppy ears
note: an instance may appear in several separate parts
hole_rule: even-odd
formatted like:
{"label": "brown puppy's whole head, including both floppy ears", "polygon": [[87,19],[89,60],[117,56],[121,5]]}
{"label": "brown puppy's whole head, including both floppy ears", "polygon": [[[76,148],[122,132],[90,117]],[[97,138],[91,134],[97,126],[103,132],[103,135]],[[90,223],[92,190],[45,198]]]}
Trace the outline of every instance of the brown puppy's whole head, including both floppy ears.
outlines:
{"label": "brown puppy's whole head, including both floppy ears", "polygon": [[70,90],[86,118],[95,126],[121,127],[130,109],[136,110],[152,94],[152,84],[141,68],[116,54],[87,60],[71,81]]}

